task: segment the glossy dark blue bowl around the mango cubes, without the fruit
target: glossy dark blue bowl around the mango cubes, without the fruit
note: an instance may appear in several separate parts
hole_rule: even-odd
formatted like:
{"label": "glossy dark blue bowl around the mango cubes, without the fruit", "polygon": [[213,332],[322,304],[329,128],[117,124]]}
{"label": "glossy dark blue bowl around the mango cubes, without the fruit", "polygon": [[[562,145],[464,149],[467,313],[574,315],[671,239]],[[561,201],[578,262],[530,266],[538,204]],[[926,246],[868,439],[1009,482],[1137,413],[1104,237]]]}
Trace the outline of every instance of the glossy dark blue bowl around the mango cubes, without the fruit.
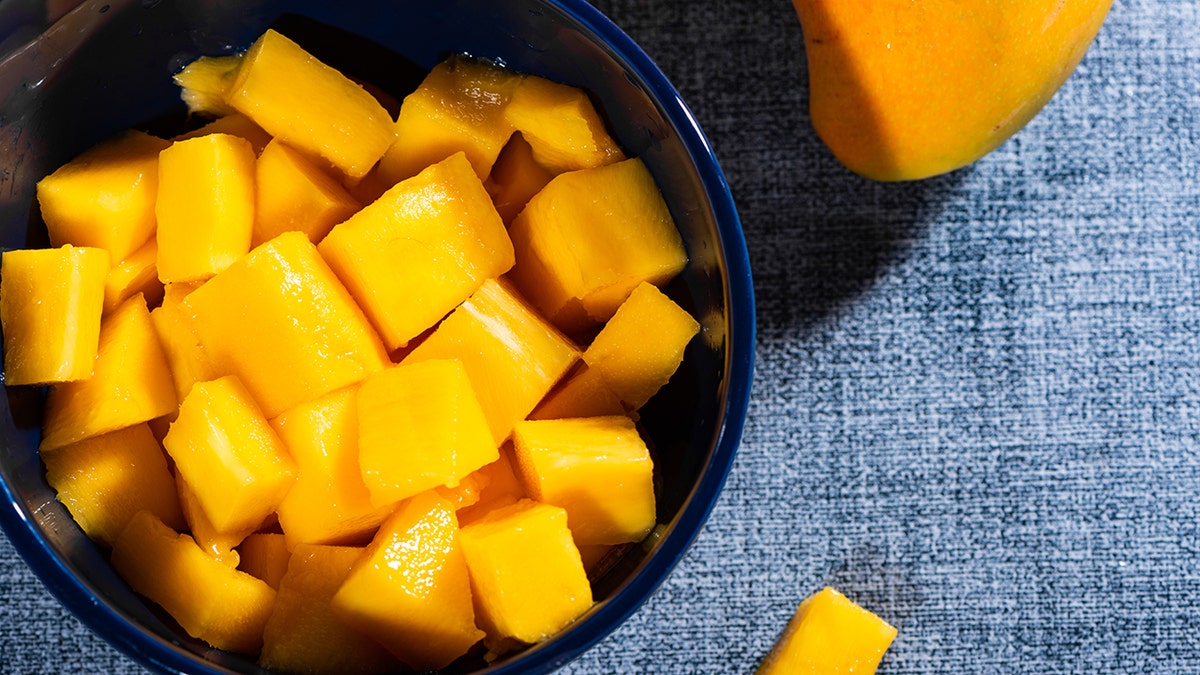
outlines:
{"label": "glossy dark blue bowl around the mango cubes, without the fruit", "polygon": [[[755,341],[749,263],[728,186],[696,120],[650,59],[583,0],[108,0],[85,1],[48,26],[37,25],[43,6],[8,0],[0,13],[6,247],[44,245],[34,205],[38,179],[120,130],[178,123],[170,76],[196,56],[245,48],[268,26],[401,95],[458,52],[593,95],[616,138],[659,181],[691,259],[667,291],[704,325],[683,368],[642,412],[665,527],[595,580],[595,607],[569,629],[490,667],[458,670],[550,671],[629,617],[683,556],[720,492],[746,413]],[[7,394],[0,398],[0,525],[50,592],[150,668],[260,673],[181,634],[114,574],[46,484],[36,453],[40,393]]]}

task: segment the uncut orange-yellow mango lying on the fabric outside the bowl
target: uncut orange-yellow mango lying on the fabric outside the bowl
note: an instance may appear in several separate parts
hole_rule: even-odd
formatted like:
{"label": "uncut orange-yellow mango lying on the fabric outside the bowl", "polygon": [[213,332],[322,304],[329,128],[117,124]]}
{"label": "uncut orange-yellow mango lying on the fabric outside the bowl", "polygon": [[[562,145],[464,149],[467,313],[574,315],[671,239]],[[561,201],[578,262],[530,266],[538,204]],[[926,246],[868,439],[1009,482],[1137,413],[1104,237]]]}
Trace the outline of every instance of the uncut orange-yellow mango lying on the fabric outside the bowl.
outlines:
{"label": "uncut orange-yellow mango lying on the fabric outside the bowl", "polygon": [[817,136],[848,169],[917,180],[1020,131],[1096,38],[1112,0],[793,0]]}

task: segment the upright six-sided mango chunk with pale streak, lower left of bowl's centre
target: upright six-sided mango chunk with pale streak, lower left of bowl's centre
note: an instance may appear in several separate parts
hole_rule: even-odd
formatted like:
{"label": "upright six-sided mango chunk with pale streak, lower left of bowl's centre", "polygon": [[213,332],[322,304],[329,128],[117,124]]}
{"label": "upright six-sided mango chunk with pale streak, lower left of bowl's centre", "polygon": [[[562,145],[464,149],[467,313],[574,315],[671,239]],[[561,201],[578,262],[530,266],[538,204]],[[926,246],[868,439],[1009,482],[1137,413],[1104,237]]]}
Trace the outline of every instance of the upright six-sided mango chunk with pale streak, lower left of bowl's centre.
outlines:
{"label": "upright six-sided mango chunk with pale streak, lower left of bowl's centre", "polygon": [[253,532],[295,477],[283,443],[234,376],[197,382],[163,446],[221,533]]}

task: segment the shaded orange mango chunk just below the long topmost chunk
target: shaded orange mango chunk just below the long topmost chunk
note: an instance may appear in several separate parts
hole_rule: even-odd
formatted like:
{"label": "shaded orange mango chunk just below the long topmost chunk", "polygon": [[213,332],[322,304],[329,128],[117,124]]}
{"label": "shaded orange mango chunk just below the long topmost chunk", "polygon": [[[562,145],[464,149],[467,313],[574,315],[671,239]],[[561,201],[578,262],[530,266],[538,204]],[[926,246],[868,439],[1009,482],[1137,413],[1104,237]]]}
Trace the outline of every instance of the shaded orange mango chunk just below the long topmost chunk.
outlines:
{"label": "shaded orange mango chunk just below the long topmost chunk", "polygon": [[295,229],[313,244],[359,210],[359,202],[302,154],[271,141],[254,165],[257,201],[252,245]]}

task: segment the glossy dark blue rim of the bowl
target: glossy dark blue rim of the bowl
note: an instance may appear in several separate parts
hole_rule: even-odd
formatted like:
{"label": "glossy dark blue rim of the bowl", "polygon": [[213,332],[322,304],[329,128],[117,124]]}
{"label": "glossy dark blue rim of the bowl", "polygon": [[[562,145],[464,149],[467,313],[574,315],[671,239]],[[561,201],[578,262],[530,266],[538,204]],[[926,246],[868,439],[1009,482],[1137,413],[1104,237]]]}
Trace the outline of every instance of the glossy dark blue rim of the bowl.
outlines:
{"label": "glossy dark blue rim of the bowl", "polygon": [[[648,90],[664,121],[678,136],[696,168],[724,252],[727,277],[725,340],[730,348],[726,350],[724,407],[719,411],[719,432],[712,456],[654,551],[619,585],[616,593],[598,603],[582,620],[553,640],[480,671],[490,675],[545,673],[560,668],[606,639],[654,595],[696,540],[725,485],[740,444],[754,376],[756,319],[749,253],[732,191],[708,138],[658,65],[608,17],[586,0],[545,1],[584,31],[599,37],[611,55],[636,76],[636,84]],[[4,482],[0,482],[0,496],[7,502],[6,508],[0,508],[0,528],[18,555],[50,595],[95,634],[134,661],[164,673],[223,673],[182,644],[148,634],[145,628],[95,593],[52,552],[49,542],[32,521],[24,501]],[[613,602],[618,598],[622,602]]]}

